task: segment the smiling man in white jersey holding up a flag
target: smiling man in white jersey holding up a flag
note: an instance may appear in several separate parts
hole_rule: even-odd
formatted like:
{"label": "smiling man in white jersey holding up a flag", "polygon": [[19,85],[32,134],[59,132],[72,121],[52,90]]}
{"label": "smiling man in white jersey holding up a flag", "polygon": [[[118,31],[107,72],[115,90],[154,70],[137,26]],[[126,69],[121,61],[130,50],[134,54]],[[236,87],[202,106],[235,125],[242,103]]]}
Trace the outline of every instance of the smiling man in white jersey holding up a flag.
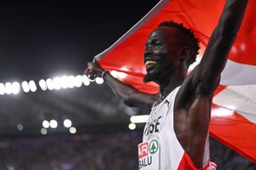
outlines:
{"label": "smiling man in white jersey holding up a flag", "polygon": [[113,93],[130,106],[151,109],[138,145],[139,169],[210,169],[208,128],[214,90],[241,26],[247,0],[228,0],[212,32],[201,63],[189,76],[198,54],[194,33],[175,22],[163,22],[148,37],[144,82],[159,84],[160,93],[139,93],[103,71],[96,61],[84,71],[104,77]]}

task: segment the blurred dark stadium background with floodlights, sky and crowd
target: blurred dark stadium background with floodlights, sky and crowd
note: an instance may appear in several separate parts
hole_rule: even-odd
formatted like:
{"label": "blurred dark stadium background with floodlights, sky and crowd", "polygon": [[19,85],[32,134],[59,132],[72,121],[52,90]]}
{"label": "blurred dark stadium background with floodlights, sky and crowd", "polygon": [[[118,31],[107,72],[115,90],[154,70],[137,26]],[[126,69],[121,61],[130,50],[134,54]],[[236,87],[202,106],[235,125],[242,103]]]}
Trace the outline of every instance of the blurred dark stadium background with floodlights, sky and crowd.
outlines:
{"label": "blurred dark stadium background with floodlights, sky and crowd", "polygon": [[[83,71],[156,3],[0,3],[0,170],[137,169],[143,123],[131,116],[148,113]],[[218,169],[256,169],[215,139],[211,149]]]}

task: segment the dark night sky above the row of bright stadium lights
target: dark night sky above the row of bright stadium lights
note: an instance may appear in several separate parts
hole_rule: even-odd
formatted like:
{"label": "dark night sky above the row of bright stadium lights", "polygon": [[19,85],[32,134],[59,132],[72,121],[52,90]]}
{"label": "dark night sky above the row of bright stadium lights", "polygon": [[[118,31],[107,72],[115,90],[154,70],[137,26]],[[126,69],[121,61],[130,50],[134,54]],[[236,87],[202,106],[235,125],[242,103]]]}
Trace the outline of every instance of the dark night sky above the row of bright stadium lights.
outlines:
{"label": "dark night sky above the row of bright stadium lights", "polygon": [[82,74],[159,0],[7,2],[0,3],[0,82]]}

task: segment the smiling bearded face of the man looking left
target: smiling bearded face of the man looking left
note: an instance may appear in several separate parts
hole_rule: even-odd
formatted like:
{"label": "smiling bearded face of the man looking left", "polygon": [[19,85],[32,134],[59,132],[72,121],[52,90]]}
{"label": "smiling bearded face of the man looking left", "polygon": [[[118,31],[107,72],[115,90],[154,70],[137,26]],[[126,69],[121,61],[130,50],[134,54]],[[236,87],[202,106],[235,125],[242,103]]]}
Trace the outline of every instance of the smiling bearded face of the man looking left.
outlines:
{"label": "smiling bearded face of the man looking left", "polygon": [[144,82],[163,82],[177,70],[180,49],[176,28],[163,26],[155,29],[148,37],[144,52],[147,75]]}

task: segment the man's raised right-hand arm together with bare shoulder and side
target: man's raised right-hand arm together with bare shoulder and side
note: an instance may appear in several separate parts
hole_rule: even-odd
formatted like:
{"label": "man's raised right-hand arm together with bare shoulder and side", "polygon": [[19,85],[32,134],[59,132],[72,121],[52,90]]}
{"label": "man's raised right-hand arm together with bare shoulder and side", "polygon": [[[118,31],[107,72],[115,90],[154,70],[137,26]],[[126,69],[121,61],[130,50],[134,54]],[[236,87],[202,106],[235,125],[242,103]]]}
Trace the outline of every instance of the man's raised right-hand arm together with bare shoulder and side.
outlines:
{"label": "man's raised right-hand arm together with bare shoulder and side", "polygon": [[175,101],[175,131],[196,167],[203,166],[211,105],[220,73],[241,26],[247,0],[227,0],[218,26],[212,32],[201,63],[179,89]]}

